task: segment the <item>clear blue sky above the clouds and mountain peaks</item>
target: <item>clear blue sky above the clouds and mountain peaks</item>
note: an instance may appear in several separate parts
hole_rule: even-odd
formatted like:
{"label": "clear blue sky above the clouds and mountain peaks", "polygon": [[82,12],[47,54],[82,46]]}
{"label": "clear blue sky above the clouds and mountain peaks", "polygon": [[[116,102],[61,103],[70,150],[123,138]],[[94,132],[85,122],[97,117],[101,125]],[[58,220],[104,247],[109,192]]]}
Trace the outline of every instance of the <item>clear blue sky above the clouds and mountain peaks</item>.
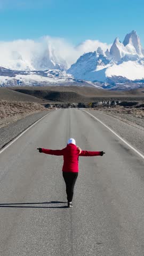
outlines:
{"label": "clear blue sky above the clouds and mountain peaks", "polygon": [[142,0],[0,0],[0,41],[61,37],[123,41],[133,29],[144,47]]}

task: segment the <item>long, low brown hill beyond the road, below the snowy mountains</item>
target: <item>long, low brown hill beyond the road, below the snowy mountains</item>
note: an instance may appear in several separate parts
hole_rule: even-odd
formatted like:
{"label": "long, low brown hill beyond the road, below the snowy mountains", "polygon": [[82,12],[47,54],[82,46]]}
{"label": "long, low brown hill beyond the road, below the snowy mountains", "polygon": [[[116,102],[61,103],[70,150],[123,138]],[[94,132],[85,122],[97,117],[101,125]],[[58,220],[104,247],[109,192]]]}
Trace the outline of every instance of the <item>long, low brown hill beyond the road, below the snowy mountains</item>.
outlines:
{"label": "long, low brown hill beyond the road, below the snowy mountains", "polygon": [[[144,100],[144,90],[107,91],[94,87],[47,86],[47,87],[13,87],[15,92],[37,97],[39,100],[57,102],[95,102],[100,99]],[[0,91],[1,93],[1,91]]]}

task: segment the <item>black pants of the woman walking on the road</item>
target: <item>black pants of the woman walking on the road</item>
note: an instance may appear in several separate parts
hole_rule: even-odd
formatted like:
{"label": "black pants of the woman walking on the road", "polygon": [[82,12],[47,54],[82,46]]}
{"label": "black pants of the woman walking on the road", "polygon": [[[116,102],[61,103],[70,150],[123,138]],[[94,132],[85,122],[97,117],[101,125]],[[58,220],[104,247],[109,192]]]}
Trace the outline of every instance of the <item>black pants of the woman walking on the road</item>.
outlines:
{"label": "black pants of the woman walking on the road", "polygon": [[63,178],[66,183],[66,193],[68,202],[71,202],[74,195],[74,186],[78,176],[78,172],[63,172]]}

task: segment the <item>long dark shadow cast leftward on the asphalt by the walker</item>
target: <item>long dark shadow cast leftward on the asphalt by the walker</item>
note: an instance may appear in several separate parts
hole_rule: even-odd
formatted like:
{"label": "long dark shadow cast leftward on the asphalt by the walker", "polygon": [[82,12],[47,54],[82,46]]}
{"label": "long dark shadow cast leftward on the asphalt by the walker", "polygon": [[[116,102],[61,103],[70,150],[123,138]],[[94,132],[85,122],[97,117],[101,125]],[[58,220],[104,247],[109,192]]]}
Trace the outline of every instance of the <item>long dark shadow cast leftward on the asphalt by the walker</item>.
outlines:
{"label": "long dark shadow cast leftward on the asphalt by the walker", "polygon": [[[0,204],[0,207],[10,207],[10,208],[68,208],[67,205],[64,206],[32,206],[33,204],[66,204],[67,202],[60,201],[50,201],[50,202],[42,202],[42,203],[9,203],[9,204]],[[29,204],[29,206],[26,206]],[[23,206],[25,205],[25,206]]]}

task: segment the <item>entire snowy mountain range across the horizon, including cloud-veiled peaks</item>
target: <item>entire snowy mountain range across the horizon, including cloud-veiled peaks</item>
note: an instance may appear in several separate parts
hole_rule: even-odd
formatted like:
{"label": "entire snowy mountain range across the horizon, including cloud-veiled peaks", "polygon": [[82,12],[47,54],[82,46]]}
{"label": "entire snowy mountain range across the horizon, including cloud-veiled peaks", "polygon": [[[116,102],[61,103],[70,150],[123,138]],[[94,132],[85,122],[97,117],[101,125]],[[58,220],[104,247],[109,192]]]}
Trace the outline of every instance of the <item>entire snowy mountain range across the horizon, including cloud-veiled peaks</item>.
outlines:
{"label": "entire snowy mountain range across the horizon, including cloud-veiled peaks", "polygon": [[144,87],[144,51],[134,30],[123,43],[116,38],[109,49],[99,46],[86,52],[69,68],[67,59],[60,57],[53,47],[35,54],[31,62],[23,61],[17,51],[12,58],[9,68],[1,64],[0,86],[88,85],[109,90]]}

